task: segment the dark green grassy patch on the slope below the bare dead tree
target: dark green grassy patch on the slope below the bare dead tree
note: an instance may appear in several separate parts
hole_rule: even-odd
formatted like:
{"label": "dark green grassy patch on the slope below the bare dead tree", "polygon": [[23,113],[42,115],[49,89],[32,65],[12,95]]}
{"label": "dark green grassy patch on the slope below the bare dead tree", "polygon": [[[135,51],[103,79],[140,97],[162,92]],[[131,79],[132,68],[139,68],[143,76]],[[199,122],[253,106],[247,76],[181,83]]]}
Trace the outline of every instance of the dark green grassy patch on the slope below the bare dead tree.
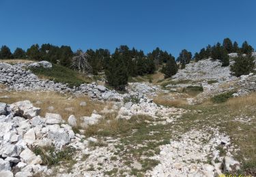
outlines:
{"label": "dark green grassy patch on the slope below the bare dead tree", "polygon": [[70,87],[91,82],[90,78],[82,76],[78,71],[74,71],[58,64],[53,64],[52,68],[31,68],[31,71],[39,77],[47,78],[54,82],[68,84]]}

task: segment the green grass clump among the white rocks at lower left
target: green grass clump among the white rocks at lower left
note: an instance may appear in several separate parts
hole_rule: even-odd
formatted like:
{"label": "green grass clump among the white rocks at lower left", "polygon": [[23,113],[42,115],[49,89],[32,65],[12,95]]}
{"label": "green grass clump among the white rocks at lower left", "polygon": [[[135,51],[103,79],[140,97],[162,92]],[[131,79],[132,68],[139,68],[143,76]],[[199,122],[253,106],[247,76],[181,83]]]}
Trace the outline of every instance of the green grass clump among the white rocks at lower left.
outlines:
{"label": "green grass clump among the white rocks at lower left", "polygon": [[74,161],[74,148],[65,147],[61,151],[57,151],[54,146],[35,147],[32,148],[35,155],[40,155],[42,158],[42,165],[59,165],[61,161]]}

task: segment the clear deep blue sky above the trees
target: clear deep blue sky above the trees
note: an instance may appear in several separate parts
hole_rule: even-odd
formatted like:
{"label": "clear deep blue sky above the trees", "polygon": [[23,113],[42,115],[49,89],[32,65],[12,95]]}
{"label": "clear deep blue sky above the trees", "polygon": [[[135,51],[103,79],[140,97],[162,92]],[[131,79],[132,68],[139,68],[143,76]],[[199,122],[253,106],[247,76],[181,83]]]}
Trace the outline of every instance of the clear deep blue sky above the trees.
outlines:
{"label": "clear deep blue sky above the trees", "polygon": [[255,7],[255,0],[0,0],[0,45],[159,46],[177,57],[230,37],[256,48]]}

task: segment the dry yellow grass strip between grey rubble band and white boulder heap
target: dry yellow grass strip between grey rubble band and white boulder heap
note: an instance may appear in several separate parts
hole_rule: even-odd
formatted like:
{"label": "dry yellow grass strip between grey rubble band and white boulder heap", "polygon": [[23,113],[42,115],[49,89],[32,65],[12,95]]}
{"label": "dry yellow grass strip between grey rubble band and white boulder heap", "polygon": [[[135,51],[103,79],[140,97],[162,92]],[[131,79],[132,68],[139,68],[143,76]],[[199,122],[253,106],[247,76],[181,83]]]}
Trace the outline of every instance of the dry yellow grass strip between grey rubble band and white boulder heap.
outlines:
{"label": "dry yellow grass strip between grey rubble band and white boulder heap", "polygon": [[[64,120],[68,116],[74,114],[76,117],[90,116],[96,110],[100,112],[106,105],[110,103],[101,103],[94,101],[87,96],[74,97],[72,95],[63,95],[55,92],[2,92],[0,96],[7,95],[9,98],[0,98],[1,102],[14,103],[16,101],[29,100],[33,106],[41,108],[41,116],[45,116],[46,112],[61,114]],[[40,103],[36,103],[40,101]],[[87,103],[86,106],[80,106],[81,101]],[[49,106],[53,106],[53,110],[48,110]]]}

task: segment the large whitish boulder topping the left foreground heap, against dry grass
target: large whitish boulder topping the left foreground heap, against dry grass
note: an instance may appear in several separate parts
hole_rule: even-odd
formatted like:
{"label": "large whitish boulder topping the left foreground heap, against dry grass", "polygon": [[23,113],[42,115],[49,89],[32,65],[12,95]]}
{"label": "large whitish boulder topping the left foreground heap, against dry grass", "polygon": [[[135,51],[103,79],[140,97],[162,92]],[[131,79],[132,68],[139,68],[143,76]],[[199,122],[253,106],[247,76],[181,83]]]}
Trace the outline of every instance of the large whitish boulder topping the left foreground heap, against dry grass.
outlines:
{"label": "large whitish boulder topping the left foreground heap, against dry grass", "polygon": [[38,116],[41,110],[40,108],[33,107],[33,104],[29,100],[12,103],[10,109],[15,112],[15,114],[29,119]]}

